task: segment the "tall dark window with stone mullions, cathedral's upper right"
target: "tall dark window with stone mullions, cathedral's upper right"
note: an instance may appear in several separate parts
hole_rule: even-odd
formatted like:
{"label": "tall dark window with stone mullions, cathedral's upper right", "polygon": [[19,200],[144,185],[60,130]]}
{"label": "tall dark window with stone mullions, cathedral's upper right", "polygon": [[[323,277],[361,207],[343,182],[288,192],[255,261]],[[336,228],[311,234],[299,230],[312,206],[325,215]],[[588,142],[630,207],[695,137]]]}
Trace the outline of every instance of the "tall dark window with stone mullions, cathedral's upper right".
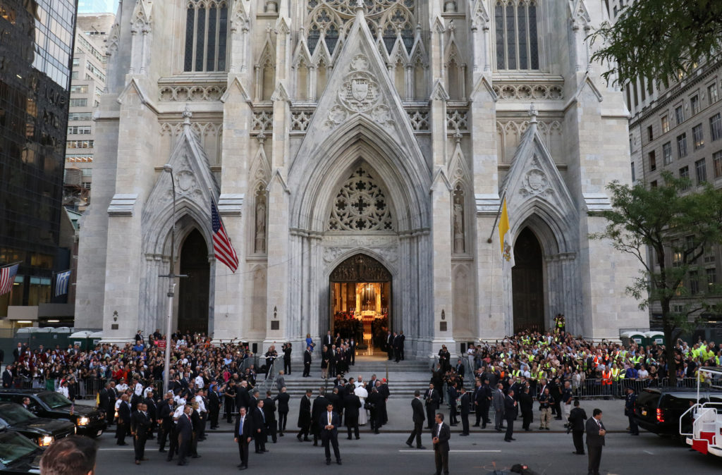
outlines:
{"label": "tall dark window with stone mullions, cathedral's upper right", "polygon": [[497,69],[539,69],[536,1],[497,0]]}

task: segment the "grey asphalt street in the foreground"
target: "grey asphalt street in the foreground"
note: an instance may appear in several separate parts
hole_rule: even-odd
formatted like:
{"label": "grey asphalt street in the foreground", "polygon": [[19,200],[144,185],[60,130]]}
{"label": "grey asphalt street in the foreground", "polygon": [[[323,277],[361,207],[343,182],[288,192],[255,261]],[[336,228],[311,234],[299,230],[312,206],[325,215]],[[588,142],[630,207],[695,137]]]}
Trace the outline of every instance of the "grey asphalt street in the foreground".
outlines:
{"label": "grey asphalt street in the foreground", "polygon": [[[473,434],[470,437],[451,437],[451,474],[482,474],[493,469],[509,468],[514,463],[526,463],[539,474],[584,475],[586,456],[572,454],[571,436],[560,432],[516,433],[516,442],[505,443],[503,435],[495,432]],[[323,448],[310,442],[299,443],[295,433],[287,432],[279,443],[266,445],[269,453],[256,455],[251,443],[249,473],[253,474],[317,474],[343,471],[345,474],[433,474],[434,455],[430,435],[424,436],[427,450],[410,449],[405,444],[406,433],[373,435],[362,432],[360,440],[347,440],[339,433],[343,466],[326,466]],[[98,439],[98,475],[123,474],[229,474],[238,472],[238,445],[230,432],[209,432],[208,439],[199,444],[201,458],[189,459],[188,466],[179,467],[175,460],[165,461],[165,453],[157,452],[155,440],[147,444],[147,458],[141,466],[134,465],[131,446],[115,445],[113,433]],[[130,442],[130,439],[127,439]],[[320,444],[320,443],[319,443]],[[333,458],[333,453],[331,453]],[[703,456],[683,445],[648,432],[640,437],[623,433],[608,435],[601,462],[601,473],[612,474],[689,474],[722,473],[722,458]]]}

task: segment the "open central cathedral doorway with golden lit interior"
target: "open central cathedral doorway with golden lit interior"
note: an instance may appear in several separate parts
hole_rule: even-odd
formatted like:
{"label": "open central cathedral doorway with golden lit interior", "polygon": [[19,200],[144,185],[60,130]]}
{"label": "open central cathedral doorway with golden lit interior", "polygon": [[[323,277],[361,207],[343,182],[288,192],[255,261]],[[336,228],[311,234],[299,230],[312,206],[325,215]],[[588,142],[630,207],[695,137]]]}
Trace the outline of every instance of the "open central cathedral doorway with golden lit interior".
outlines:
{"label": "open central cathedral doorway with golden lit interior", "polygon": [[391,272],[375,258],[356,254],[329,276],[329,329],[342,338],[383,347],[391,330]]}

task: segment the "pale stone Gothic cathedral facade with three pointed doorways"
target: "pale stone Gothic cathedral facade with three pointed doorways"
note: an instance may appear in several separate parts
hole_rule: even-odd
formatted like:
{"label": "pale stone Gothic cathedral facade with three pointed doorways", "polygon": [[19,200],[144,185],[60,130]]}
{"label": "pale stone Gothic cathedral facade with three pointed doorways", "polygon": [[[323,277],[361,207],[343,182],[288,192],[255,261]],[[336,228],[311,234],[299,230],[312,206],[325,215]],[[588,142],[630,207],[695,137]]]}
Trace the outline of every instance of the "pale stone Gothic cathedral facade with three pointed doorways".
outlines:
{"label": "pale stone Gothic cathedral facade with three pointed doorways", "polygon": [[76,326],[165,328],[171,256],[173,328],[259,349],[353,327],[404,331],[421,357],[557,313],[595,339],[648,326],[634,260],[589,238],[606,183],[630,180],[622,93],[586,40],[607,17],[601,0],[121,0]]}

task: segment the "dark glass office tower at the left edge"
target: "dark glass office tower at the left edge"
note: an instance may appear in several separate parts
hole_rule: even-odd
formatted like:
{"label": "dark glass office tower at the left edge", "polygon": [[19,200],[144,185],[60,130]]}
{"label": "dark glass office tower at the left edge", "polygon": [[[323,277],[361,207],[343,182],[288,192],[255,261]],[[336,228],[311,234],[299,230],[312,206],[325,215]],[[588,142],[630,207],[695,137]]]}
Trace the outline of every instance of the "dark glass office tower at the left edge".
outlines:
{"label": "dark glass office tower at the left edge", "polygon": [[54,302],[77,0],[0,0],[0,266],[19,262],[9,305]]}

